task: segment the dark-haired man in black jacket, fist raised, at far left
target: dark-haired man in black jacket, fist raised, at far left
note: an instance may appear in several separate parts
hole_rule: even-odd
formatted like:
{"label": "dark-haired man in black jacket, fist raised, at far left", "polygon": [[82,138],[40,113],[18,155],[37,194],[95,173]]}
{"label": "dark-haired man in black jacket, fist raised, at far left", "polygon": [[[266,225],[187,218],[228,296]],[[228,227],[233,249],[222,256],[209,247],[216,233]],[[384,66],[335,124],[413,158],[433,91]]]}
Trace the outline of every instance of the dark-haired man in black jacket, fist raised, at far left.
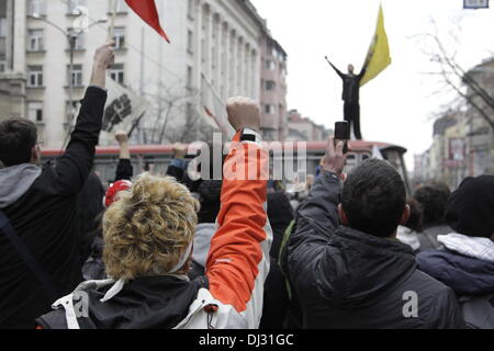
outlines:
{"label": "dark-haired man in black jacket, fist raised, at far left", "polygon": [[[94,55],[75,131],[56,165],[40,161],[36,127],[27,120],[0,123],[0,210],[40,265],[56,293],[67,294],[82,280],[76,218],[77,197],[91,171],[106,101],[105,75],[114,43]],[[0,328],[34,328],[54,298],[0,231]]]}

